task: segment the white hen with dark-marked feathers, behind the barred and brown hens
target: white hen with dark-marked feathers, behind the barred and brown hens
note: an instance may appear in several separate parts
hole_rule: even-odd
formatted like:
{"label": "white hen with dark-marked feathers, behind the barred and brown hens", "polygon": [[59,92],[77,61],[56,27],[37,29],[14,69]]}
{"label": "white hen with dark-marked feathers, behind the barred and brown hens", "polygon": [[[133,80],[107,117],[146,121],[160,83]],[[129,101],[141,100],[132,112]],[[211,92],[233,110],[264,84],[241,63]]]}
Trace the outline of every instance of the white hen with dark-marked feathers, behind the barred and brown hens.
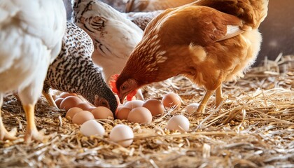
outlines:
{"label": "white hen with dark-marked feathers, behind the barred and brown hens", "polygon": [[[73,22],[90,35],[94,42],[92,60],[101,66],[104,79],[120,73],[143,31],[125,15],[97,0],[73,0]],[[137,98],[143,99],[141,94]]]}

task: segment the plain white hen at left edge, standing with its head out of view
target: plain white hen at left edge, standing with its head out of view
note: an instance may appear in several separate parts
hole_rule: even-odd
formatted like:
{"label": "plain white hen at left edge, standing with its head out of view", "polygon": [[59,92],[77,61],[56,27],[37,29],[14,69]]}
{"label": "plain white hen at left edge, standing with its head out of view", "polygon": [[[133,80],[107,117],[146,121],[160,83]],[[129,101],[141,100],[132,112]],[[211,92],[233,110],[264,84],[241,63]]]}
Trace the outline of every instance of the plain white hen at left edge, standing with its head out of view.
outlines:
{"label": "plain white hen at left edge, standing with its head out of view", "polygon": [[[50,62],[59,54],[66,29],[62,0],[0,1],[0,106],[17,91],[27,118],[25,141],[42,140],[34,106],[42,93]],[[0,113],[0,140],[15,139]]]}

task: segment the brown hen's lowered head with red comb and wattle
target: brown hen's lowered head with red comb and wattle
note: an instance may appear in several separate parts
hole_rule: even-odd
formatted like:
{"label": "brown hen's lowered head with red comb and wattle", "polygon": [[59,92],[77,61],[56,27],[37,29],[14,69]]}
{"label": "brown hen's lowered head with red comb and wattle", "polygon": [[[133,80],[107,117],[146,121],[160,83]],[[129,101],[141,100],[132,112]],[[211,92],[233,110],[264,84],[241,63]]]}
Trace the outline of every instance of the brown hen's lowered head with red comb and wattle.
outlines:
{"label": "brown hen's lowered head with red comb and wattle", "polygon": [[133,78],[125,78],[124,76],[119,76],[118,74],[111,77],[110,85],[118,97],[120,98],[120,103],[123,104],[125,97],[127,100],[132,100],[132,97],[136,95],[138,84]]}

